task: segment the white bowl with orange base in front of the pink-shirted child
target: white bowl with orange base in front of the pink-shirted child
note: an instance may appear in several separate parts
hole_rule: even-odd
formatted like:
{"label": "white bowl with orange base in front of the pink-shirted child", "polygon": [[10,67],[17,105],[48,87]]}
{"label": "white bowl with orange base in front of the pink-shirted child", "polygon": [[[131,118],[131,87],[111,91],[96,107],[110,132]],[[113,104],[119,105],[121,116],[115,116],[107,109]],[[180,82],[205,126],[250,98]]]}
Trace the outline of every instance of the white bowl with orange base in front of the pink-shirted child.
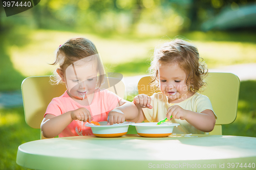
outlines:
{"label": "white bowl with orange base in front of the pink-shirted child", "polygon": [[122,124],[106,125],[108,122],[99,122],[100,126],[86,123],[86,126],[91,127],[93,134],[97,137],[119,137],[125,135],[129,125],[134,122],[124,122]]}

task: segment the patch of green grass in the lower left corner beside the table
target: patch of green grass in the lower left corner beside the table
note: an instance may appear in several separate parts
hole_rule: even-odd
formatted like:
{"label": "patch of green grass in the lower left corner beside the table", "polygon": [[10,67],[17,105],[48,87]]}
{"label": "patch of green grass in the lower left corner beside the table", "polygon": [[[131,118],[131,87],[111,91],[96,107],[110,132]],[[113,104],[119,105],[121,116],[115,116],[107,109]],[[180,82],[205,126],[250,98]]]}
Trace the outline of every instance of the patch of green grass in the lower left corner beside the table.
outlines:
{"label": "patch of green grass in the lower left corner beside the table", "polygon": [[16,164],[18,146],[40,139],[40,130],[30,128],[23,107],[0,109],[0,169],[27,169]]}

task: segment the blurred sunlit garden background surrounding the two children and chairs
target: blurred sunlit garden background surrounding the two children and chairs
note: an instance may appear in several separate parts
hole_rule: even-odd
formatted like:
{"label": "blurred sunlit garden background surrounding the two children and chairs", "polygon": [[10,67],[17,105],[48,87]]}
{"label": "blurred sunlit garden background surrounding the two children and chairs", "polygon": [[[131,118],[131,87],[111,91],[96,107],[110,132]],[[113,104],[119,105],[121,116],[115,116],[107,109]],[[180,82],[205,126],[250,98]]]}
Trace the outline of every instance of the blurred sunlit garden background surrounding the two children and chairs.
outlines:
{"label": "blurred sunlit garden background surrounding the two children and chairs", "polygon": [[[176,37],[194,43],[210,69],[256,64],[255,0],[44,0],[9,17],[0,5],[0,98],[13,94],[10,103],[26,77],[51,75],[56,48],[78,36],[124,77],[147,74],[155,46]],[[256,78],[241,82],[238,117],[224,135],[256,136],[255,87]],[[0,169],[23,169],[17,147],[39,130],[26,125],[22,105],[0,106]]]}

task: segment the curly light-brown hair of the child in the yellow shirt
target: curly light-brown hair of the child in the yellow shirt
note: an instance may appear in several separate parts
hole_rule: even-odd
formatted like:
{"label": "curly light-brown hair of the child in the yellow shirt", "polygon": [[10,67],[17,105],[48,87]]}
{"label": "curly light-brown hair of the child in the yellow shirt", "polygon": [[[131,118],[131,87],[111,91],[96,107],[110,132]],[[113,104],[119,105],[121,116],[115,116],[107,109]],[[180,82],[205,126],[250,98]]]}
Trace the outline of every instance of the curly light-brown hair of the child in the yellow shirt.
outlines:
{"label": "curly light-brown hair of the child in the yellow shirt", "polygon": [[186,72],[186,85],[189,86],[190,92],[197,92],[206,85],[203,78],[207,75],[208,69],[203,63],[203,58],[199,57],[197,47],[185,40],[175,39],[155,48],[154,59],[149,68],[154,74],[154,80],[150,85],[155,89],[159,88],[157,68],[161,64],[169,63],[177,63]]}

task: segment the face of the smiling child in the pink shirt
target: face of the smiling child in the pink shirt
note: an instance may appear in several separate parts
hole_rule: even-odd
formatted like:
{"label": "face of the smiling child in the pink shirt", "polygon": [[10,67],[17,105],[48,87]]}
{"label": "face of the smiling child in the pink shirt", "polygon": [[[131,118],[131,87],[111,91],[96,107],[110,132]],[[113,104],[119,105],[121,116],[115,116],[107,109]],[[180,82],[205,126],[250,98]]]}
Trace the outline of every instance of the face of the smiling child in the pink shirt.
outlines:
{"label": "face of the smiling child in the pink shirt", "polygon": [[71,98],[83,100],[95,91],[97,83],[97,66],[95,61],[78,60],[63,68],[63,79]]}

